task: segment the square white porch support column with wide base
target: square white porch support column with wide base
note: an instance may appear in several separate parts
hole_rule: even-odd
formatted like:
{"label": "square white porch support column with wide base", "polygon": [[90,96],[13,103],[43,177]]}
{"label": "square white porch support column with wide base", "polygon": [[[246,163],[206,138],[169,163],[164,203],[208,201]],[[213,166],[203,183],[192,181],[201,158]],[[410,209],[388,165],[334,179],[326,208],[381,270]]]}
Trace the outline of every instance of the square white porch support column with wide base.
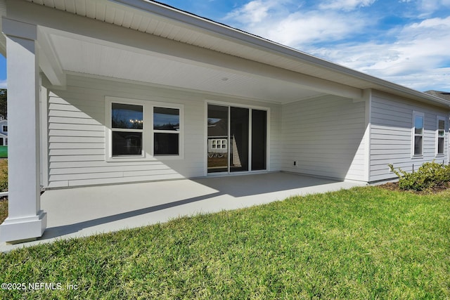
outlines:
{"label": "square white porch support column with wide base", "polygon": [[37,26],[3,19],[8,66],[8,218],[0,242],[40,237],[39,63]]}

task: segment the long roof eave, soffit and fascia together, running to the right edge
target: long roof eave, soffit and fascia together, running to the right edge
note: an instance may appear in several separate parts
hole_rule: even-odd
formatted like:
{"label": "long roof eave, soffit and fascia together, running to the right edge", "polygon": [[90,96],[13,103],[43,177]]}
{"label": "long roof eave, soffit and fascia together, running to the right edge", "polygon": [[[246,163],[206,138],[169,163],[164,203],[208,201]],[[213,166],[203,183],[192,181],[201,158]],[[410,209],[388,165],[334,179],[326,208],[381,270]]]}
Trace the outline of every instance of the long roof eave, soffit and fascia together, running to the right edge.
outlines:
{"label": "long roof eave, soffit and fascia together, running to the right edge", "polygon": [[[1,1],[1,0],[0,0]],[[180,41],[213,51],[226,53],[231,56],[237,56],[248,60],[254,60],[266,65],[280,67],[285,70],[291,70],[300,74],[306,74],[311,77],[334,81],[345,86],[352,86],[357,89],[377,89],[387,93],[394,93],[399,96],[405,96],[420,101],[438,102],[439,98],[427,96],[424,93],[408,89],[404,86],[393,84],[383,79],[371,77],[368,74],[357,72],[355,70],[342,67],[334,63],[309,56],[295,49],[290,49],[283,45],[278,45],[272,41],[267,41],[252,34],[240,32],[239,30],[220,25],[217,22],[200,18],[190,13],[178,11],[176,8],[168,8],[162,4],[147,0],[25,0],[34,4],[56,8],[60,11],[66,11],[75,15],[82,15],[87,18],[100,20],[110,24],[126,27],[139,32],[146,32],[158,37]],[[181,13],[187,18],[195,18],[204,23],[210,23],[216,27],[222,26],[222,32],[231,32],[241,35],[240,39],[233,39],[228,33],[221,34],[181,22],[175,18],[165,15],[158,15],[149,11],[143,11],[131,8],[117,2],[134,1],[141,6],[162,6],[162,9],[169,12]],[[186,19],[185,19],[186,20]],[[258,40],[256,44],[242,39],[242,36],[249,37],[253,41]],[[286,54],[287,53],[287,54]]]}

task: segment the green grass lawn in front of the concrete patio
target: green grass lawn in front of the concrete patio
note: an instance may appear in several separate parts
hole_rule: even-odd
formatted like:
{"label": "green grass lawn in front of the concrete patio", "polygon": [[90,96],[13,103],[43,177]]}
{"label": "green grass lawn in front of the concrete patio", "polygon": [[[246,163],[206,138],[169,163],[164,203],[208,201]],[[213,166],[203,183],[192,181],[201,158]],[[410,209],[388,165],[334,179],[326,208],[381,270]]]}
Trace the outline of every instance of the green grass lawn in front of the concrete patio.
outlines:
{"label": "green grass lawn in front of the concrete patio", "polygon": [[[0,299],[449,299],[450,193],[292,197],[0,254]],[[67,284],[77,289],[67,289]]]}

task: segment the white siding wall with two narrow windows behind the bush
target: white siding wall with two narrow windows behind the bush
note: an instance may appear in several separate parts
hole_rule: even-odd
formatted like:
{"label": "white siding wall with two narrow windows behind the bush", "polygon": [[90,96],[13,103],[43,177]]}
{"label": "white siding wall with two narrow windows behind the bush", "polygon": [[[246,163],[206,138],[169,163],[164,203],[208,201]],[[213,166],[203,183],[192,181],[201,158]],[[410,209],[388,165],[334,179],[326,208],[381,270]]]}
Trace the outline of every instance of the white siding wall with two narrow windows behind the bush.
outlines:
{"label": "white siding wall with two narrow windows behind the bush", "polygon": [[[423,112],[423,157],[412,157],[413,112]],[[436,155],[437,116],[445,119],[444,155]],[[388,164],[412,171],[424,162],[448,163],[449,117],[446,108],[413,102],[385,93],[373,93],[371,100],[370,181],[397,178]]]}

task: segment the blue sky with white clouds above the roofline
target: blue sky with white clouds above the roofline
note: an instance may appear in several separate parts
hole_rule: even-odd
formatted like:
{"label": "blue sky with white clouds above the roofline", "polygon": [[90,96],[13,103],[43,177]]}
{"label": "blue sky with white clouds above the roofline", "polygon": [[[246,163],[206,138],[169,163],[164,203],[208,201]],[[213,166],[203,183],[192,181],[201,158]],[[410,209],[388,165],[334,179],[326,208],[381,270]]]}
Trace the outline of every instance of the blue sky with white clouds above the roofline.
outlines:
{"label": "blue sky with white clouds above the roofline", "polygon": [[160,1],[411,89],[450,91],[450,0]]}

